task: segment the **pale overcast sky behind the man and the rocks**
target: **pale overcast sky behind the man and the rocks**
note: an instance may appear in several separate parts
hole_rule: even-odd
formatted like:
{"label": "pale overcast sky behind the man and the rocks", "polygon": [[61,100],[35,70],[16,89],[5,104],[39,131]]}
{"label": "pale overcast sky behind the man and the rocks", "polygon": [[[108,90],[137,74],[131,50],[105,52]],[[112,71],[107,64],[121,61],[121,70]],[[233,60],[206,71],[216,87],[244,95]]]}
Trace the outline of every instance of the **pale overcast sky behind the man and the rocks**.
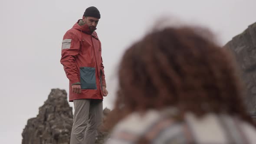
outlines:
{"label": "pale overcast sky behind the man and the rocks", "polygon": [[206,26],[221,45],[256,22],[256,0],[1,0],[1,144],[21,144],[27,120],[36,117],[52,88],[68,92],[59,62],[62,38],[90,6],[102,16],[96,32],[109,91],[103,105],[108,108],[124,50],[162,16]]}

